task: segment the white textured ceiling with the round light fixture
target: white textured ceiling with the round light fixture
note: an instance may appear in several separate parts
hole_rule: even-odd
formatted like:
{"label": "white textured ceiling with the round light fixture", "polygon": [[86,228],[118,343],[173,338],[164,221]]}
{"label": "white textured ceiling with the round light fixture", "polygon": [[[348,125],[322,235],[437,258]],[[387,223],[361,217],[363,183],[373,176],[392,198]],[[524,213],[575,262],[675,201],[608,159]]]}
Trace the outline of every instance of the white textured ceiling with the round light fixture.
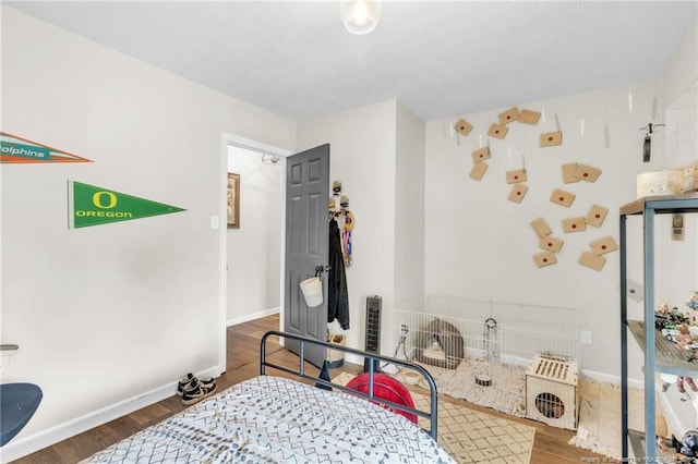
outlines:
{"label": "white textured ceiling with the round light fixture", "polygon": [[662,76],[698,2],[3,1],[297,121],[399,99],[424,121]]}

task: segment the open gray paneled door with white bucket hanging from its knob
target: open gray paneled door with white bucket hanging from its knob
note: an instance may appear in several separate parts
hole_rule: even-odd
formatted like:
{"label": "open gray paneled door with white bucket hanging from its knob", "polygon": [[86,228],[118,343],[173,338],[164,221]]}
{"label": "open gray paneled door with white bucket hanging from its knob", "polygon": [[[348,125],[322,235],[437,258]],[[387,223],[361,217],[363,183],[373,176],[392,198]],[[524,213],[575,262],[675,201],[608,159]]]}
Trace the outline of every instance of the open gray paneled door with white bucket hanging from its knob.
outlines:
{"label": "open gray paneled door with white bucket hanging from its knob", "polygon": [[[308,307],[300,282],[325,267],[329,255],[329,144],[286,159],[286,266],[284,330],[315,340],[327,339],[327,273],[323,272],[323,304]],[[300,355],[298,342],[286,347]],[[305,346],[304,357],[322,366],[325,350]]]}

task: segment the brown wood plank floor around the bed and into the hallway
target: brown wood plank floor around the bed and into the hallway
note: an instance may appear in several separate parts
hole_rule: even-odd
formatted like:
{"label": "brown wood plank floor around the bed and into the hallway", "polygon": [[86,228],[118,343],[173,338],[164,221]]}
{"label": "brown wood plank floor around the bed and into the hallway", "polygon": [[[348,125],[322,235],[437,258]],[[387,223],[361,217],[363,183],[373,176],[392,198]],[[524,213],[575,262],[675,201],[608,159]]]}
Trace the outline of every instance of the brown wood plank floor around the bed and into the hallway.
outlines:
{"label": "brown wood plank floor around the bed and into the hallway", "polygon": [[[219,390],[258,375],[260,339],[265,331],[278,329],[278,316],[268,316],[263,319],[228,328],[228,364],[226,374],[217,379]],[[277,364],[298,363],[296,355],[287,352],[277,343],[268,345],[267,354],[270,354],[269,358]],[[345,363],[342,370],[357,374],[361,371],[362,368],[363,366]],[[308,367],[308,373],[317,373],[317,369],[313,369],[312,366]],[[333,376],[336,374],[338,373],[333,370]],[[567,444],[567,441],[574,436],[574,432],[569,430],[563,430],[533,420],[510,417],[494,412],[493,410],[480,407],[445,395],[440,395],[440,401],[460,404],[494,416],[535,427],[535,442],[533,443],[533,452],[531,455],[532,464],[603,462],[602,456],[599,454]],[[173,395],[159,403],[155,403],[133,414],[87,430],[14,462],[21,464],[76,463],[182,410],[183,406],[179,396]],[[594,460],[594,457],[598,460]]]}

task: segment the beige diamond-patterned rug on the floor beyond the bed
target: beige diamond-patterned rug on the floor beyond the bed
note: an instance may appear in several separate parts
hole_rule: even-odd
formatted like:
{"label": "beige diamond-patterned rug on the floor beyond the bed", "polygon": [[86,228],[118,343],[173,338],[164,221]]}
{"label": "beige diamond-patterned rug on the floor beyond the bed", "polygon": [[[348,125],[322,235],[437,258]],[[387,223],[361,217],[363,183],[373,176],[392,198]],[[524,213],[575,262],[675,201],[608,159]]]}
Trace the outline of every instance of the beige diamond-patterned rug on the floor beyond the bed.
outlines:
{"label": "beige diamond-patterned rug on the floor beyond the bed", "polygon": [[[352,377],[341,373],[333,382],[346,384]],[[429,396],[411,394],[418,408],[429,410]],[[420,418],[420,426],[429,428],[429,422]],[[438,444],[459,463],[528,464],[534,438],[533,427],[438,402]]]}

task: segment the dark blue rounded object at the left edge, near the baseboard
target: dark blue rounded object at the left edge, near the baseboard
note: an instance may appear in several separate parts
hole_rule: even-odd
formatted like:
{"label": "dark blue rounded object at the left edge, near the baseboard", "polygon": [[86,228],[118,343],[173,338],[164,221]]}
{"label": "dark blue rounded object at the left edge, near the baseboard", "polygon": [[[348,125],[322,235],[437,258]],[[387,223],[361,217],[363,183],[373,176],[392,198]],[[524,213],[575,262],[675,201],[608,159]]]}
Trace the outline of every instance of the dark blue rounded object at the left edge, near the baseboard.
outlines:
{"label": "dark blue rounded object at the left edge, near the baseboard", "polygon": [[0,384],[0,447],[24,428],[41,398],[41,389],[34,383]]}

